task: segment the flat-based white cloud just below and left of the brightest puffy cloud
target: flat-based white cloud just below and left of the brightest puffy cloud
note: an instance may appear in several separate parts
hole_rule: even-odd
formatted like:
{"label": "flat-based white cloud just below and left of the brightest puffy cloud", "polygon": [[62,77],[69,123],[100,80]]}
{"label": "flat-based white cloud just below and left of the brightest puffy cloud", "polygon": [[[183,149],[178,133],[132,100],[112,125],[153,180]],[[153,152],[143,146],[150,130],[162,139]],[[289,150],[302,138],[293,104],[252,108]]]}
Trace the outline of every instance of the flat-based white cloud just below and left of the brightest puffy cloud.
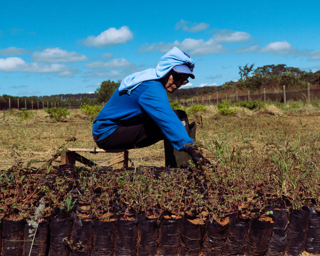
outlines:
{"label": "flat-based white cloud just below and left of the brightest puffy cloud", "polygon": [[41,52],[34,52],[32,55],[35,61],[44,62],[76,62],[87,60],[86,56],[75,51],[68,52],[59,47],[47,48]]}

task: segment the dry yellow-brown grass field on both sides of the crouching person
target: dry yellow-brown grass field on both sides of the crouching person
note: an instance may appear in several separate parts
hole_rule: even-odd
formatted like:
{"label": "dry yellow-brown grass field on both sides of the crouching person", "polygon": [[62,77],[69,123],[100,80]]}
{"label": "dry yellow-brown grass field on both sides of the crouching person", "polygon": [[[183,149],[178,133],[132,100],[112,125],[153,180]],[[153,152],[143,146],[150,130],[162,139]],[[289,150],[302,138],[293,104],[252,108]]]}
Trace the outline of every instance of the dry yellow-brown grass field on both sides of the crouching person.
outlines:
{"label": "dry yellow-brown grass field on both sides of the crouching person", "polygon": [[[237,107],[235,116],[221,115],[215,106],[208,106],[207,111],[189,115],[190,122],[197,121],[196,139],[205,144],[225,137],[225,141],[234,146],[245,145],[250,149],[262,150],[274,136],[284,136],[294,140],[297,131],[303,136],[320,134],[320,112],[313,106],[283,110],[270,105],[259,111]],[[93,148],[95,143],[91,136],[92,122],[79,110],[72,110],[64,122],[53,122],[43,110],[33,110],[31,119],[19,119],[17,110],[13,114],[5,112],[0,119],[0,169],[7,169],[17,162],[26,166],[45,165],[52,155],[61,147]],[[202,126],[199,122],[202,117]],[[305,126],[301,127],[301,123]],[[75,141],[66,139],[75,137]],[[65,145],[66,144],[66,145]],[[210,152],[203,150],[210,158]],[[109,154],[84,153],[85,157],[105,160]],[[129,166],[164,166],[163,142],[129,150]],[[58,160],[58,158],[57,158]],[[58,165],[54,162],[53,165]]]}

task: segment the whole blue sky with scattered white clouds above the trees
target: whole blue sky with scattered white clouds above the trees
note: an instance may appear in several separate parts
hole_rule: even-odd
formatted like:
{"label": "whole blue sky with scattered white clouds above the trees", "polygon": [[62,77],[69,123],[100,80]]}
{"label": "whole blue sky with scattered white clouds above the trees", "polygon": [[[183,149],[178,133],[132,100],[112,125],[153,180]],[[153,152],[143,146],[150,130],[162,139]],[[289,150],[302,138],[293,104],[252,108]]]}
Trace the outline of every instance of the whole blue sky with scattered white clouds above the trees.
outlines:
{"label": "whole blue sky with scattered white clouds above the trees", "polygon": [[239,66],[320,69],[318,0],[2,0],[0,95],[86,93],[154,68],[173,46],[195,61],[188,86]]}

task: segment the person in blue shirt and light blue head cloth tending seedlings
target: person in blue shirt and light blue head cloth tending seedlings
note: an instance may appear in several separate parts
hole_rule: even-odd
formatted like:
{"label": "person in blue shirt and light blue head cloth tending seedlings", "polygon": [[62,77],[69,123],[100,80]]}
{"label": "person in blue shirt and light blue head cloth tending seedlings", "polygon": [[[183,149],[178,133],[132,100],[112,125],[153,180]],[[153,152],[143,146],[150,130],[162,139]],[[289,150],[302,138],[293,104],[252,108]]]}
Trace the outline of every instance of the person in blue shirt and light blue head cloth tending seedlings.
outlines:
{"label": "person in blue shirt and light blue head cloth tending seedlings", "polygon": [[173,110],[166,94],[186,84],[189,77],[193,79],[193,67],[190,56],[173,47],[156,68],[126,76],[93,121],[98,147],[131,149],[163,139],[166,166],[180,166],[185,155],[204,164],[206,159],[194,144],[195,123],[188,123],[184,111]]}

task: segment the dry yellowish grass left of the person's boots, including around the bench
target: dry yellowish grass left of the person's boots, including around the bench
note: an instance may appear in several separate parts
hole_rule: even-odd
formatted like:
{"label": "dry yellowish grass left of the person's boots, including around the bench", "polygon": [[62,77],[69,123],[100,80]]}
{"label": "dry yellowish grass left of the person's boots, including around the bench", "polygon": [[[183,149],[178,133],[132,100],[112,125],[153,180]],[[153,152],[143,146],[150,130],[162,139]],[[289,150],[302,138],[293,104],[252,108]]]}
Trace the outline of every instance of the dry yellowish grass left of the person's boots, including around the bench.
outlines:
{"label": "dry yellowish grass left of the person's boots, including around the bench", "polygon": [[[7,169],[17,162],[40,168],[62,147],[96,147],[91,135],[92,122],[79,110],[73,110],[65,122],[54,122],[43,110],[33,110],[32,118],[20,119],[18,111],[6,111],[0,119],[0,169]],[[66,140],[75,137],[75,141]],[[163,142],[147,148],[129,150],[131,164],[164,165]],[[108,154],[84,153],[89,159],[105,159]],[[99,162],[99,161],[98,161]],[[53,163],[58,165],[58,162]]]}

